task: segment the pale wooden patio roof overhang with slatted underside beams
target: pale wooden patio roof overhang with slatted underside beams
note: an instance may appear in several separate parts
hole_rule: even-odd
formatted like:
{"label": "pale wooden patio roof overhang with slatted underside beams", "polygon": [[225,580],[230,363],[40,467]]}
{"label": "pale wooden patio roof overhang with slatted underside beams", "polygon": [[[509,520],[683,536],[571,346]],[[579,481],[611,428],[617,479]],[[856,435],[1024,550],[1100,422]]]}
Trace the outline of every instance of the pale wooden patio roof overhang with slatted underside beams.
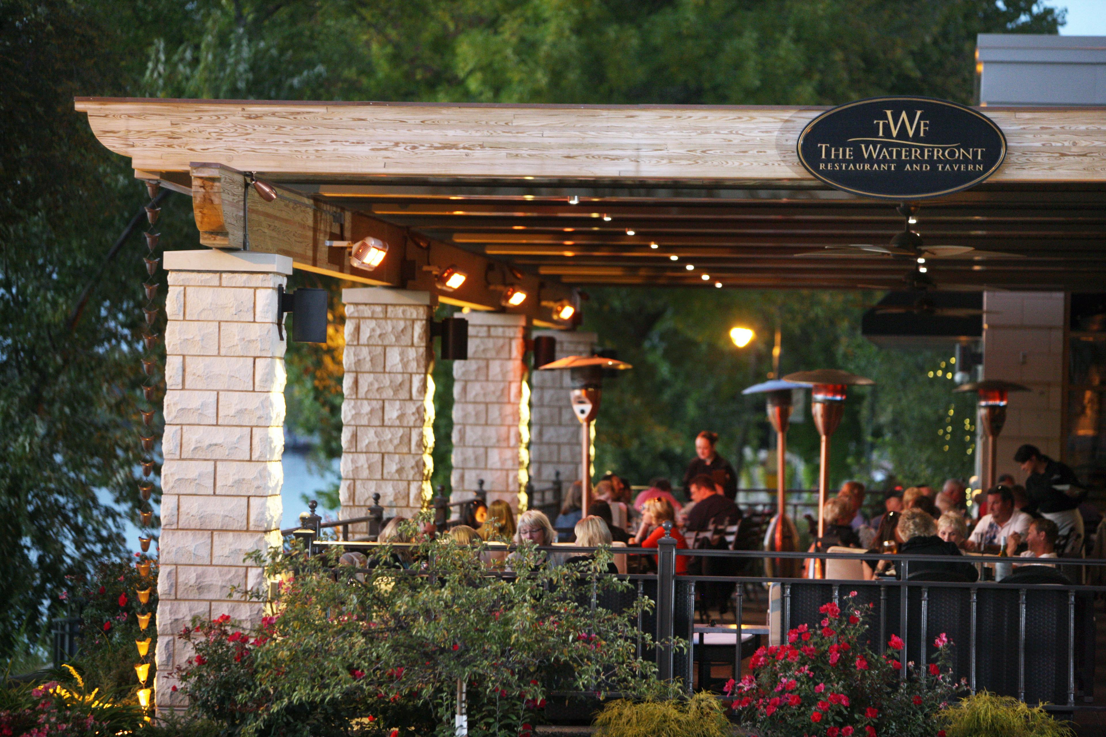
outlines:
{"label": "pale wooden patio roof overhang with slatted underside beams", "polygon": [[[207,245],[241,246],[242,172],[255,171],[283,189],[271,203],[249,200],[254,250],[431,291],[422,266],[457,263],[471,294],[444,301],[498,308],[487,285],[508,278],[540,288],[519,309],[540,322],[539,303],[574,285],[894,289],[914,270],[877,254],[797,255],[884,245],[904,228],[895,202],[830,189],[800,166],[795,141],[822,107],[77,98],[76,108],[139,178],[192,194]],[[929,275],[938,286],[1100,291],[1106,108],[984,112],[1006,136],[1005,162],[971,190],[922,201],[915,228],[927,244],[1011,256],[931,261]],[[401,257],[357,273],[322,245],[338,231],[403,242]]]}

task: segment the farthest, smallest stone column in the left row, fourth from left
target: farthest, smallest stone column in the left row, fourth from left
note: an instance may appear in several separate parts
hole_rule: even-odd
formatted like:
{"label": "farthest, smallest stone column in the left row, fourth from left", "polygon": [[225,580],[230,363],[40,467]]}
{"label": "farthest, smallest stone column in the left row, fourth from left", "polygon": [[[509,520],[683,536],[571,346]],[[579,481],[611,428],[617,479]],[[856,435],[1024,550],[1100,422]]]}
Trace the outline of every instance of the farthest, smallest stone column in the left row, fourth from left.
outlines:
{"label": "farthest, smallest stone column in the left row, fourth from left", "polygon": [[[534,330],[533,337],[556,338],[556,357],[591,356],[595,348],[594,333],[568,333],[565,330]],[[580,444],[584,427],[568,403],[572,383],[568,371],[534,371],[531,377],[531,477],[538,488],[553,483],[556,472],[561,473],[562,488],[567,489],[574,481],[580,481]],[[560,499],[547,499],[559,504]]]}

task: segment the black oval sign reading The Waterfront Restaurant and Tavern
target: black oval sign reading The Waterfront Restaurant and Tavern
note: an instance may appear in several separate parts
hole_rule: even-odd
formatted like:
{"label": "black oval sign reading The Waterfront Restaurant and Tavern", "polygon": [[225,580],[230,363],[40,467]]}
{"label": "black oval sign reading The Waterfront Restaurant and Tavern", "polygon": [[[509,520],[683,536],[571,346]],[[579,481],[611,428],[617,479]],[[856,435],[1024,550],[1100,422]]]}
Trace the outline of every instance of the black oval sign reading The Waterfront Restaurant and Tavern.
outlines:
{"label": "black oval sign reading The Waterfront Restaurant and Tavern", "polygon": [[978,185],[1002,165],[1006,138],[989,117],[930,97],[876,97],[811,120],[799,160],[831,187],[895,200]]}

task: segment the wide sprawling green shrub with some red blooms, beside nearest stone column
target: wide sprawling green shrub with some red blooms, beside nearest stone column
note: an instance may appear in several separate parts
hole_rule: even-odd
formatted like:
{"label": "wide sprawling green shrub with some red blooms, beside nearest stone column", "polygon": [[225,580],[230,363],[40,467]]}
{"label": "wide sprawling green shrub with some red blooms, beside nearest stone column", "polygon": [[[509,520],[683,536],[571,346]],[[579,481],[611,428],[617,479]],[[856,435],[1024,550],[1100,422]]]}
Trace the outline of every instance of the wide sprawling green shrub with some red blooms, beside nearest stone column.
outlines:
{"label": "wide sprawling green shrub with some red blooms, beside nearest stone column", "polygon": [[512,560],[515,578],[490,575],[478,549],[452,540],[414,546],[411,569],[396,567],[388,546],[365,569],[337,565],[338,552],[270,551],[276,617],[249,631],[226,618],[188,630],[196,654],[180,680],[195,713],[247,737],[451,737],[460,685],[470,735],[528,737],[551,689],[644,697],[667,688],[655,664],[636,657],[646,604],[591,609],[593,586],[601,597],[632,590],[598,576],[608,552],[550,568],[525,546]]}

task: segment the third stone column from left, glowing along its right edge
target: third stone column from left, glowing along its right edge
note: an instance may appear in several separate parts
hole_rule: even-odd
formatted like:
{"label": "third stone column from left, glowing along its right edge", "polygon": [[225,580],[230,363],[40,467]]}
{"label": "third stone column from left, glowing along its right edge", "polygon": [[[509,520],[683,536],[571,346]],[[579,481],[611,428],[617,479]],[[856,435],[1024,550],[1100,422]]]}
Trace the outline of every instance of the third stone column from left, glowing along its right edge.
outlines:
{"label": "third stone column from left, glowing along its right edge", "polygon": [[469,358],[453,362],[451,501],[472,498],[479,481],[488,501],[518,510],[529,481],[529,385],[523,315],[470,312]]}

